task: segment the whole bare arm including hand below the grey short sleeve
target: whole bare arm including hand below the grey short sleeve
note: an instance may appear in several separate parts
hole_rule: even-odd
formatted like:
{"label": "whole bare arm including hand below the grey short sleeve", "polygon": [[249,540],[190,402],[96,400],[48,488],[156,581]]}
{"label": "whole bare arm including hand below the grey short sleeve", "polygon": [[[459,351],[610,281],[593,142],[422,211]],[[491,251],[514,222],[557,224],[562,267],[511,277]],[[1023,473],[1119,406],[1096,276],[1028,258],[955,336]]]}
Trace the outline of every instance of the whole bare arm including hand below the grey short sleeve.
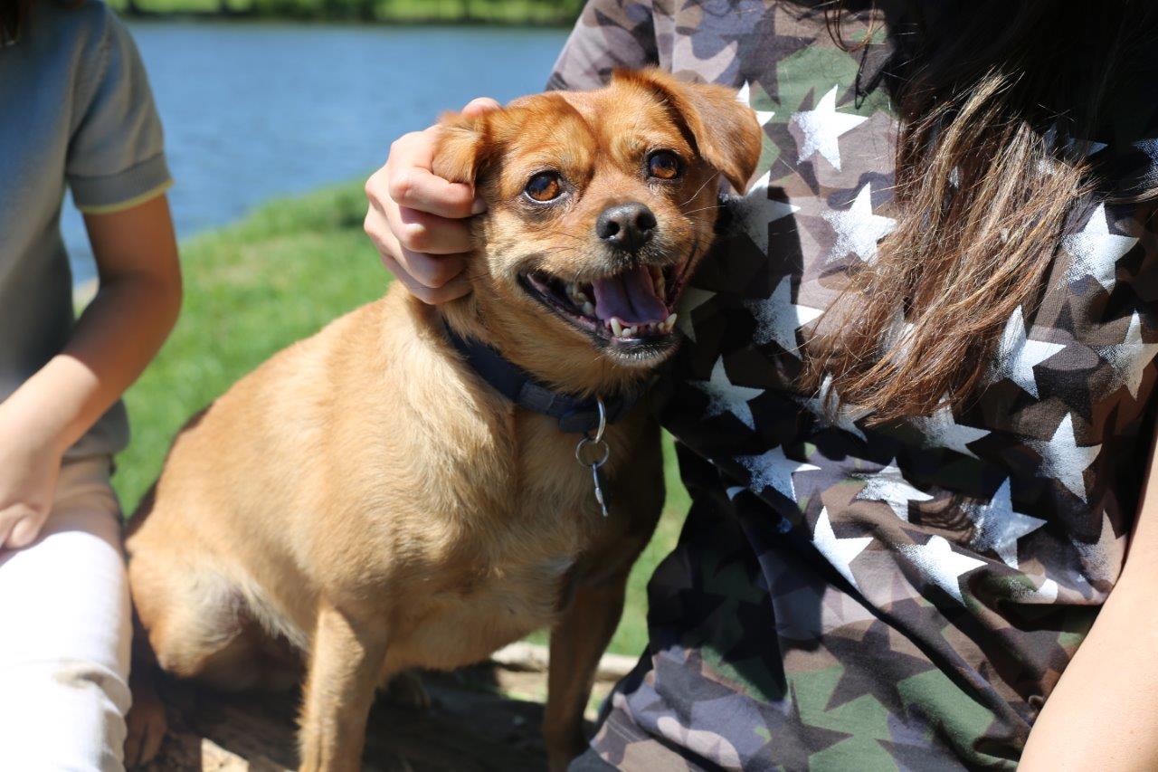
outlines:
{"label": "whole bare arm including hand below the grey short sleeve", "polygon": [[52,504],[64,452],[119,399],[181,307],[169,204],[87,214],[100,291],[68,345],[0,402],[0,546],[23,547]]}

